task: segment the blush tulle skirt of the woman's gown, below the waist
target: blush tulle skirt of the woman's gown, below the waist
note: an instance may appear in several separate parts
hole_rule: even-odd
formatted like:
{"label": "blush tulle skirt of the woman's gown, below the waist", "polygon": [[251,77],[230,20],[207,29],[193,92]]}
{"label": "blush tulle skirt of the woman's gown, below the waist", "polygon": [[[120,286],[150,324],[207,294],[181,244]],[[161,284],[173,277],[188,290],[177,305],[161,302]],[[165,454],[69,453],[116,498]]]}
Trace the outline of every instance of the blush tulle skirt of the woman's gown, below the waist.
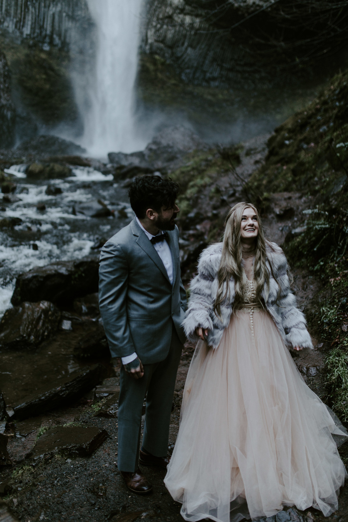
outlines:
{"label": "blush tulle skirt of the woman's gown, below the waist", "polygon": [[216,350],[197,344],[165,485],[185,520],[238,522],[293,505],[328,516],[347,477],[331,435],[348,438],[339,425],[271,316],[239,311]]}

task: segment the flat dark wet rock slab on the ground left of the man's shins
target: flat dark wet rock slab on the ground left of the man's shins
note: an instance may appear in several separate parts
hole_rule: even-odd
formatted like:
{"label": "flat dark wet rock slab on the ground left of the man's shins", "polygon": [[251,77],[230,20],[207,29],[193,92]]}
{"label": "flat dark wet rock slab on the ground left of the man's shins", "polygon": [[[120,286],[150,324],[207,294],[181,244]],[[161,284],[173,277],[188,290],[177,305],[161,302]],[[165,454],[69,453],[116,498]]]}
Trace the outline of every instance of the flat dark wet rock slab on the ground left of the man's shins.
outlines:
{"label": "flat dark wet rock slab on the ground left of the man's shins", "polygon": [[46,431],[38,439],[32,458],[51,453],[87,457],[105,441],[107,431],[97,426],[58,426]]}

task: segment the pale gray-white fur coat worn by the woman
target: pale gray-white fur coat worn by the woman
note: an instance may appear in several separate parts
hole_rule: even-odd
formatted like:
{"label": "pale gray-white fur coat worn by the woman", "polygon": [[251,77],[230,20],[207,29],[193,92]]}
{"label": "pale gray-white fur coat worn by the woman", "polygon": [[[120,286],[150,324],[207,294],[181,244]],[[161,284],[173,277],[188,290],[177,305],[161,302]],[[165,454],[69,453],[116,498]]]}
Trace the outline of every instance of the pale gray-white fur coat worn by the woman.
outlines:
{"label": "pale gray-white fur coat worn by the woman", "polygon": [[[296,308],[294,294],[290,290],[287,277],[287,261],[282,249],[275,243],[267,248],[267,257],[272,263],[274,276],[279,282],[280,298],[277,302],[278,284],[270,271],[270,291],[268,298],[267,286],[263,289],[263,299],[266,309],[273,318],[286,346],[294,348],[313,348],[310,335],[306,329],[306,319]],[[190,283],[190,297],[186,317],[183,322],[185,333],[191,341],[196,341],[197,327],[207,328],[208,345],[217,348],[224,329],[229,326],[235,298],[234,281],[230,282],[230,296],[221,305],[220,319],[214,314],[213,306],[218,291],[218,270],[221,260],[222,243],[208,246],[199,257],[198,274]]]}

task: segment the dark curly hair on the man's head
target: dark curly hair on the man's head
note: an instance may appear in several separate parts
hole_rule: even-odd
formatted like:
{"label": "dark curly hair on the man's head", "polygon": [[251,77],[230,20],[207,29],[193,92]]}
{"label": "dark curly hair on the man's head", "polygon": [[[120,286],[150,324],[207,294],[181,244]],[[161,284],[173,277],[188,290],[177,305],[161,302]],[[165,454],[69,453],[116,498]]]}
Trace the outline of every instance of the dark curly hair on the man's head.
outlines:
{"label": "dark curly hair on the man's head", "polygon": [[162,206],[173,206],[179,190],[179,184],[170,177],[163,179],[160,176],[139,176],[128,190],[130,206],[135,215],[142,219],[145,218],[148,208],[160,212]]}

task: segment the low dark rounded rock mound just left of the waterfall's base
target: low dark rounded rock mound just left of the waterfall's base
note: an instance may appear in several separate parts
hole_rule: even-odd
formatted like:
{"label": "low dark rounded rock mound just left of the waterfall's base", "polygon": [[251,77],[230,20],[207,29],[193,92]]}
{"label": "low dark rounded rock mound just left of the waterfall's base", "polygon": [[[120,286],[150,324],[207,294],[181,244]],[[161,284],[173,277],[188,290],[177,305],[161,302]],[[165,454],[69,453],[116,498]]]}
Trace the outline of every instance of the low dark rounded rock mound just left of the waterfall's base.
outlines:
{"label": "low dark rounded rock mound just left of the waterfall's base", "polygon": [[46,158],[50,156],[75,156],[82,155],[86,150],[66,139],[57,136],[37,136],[23,141],[16,149],[18,156],[33,155]]}

